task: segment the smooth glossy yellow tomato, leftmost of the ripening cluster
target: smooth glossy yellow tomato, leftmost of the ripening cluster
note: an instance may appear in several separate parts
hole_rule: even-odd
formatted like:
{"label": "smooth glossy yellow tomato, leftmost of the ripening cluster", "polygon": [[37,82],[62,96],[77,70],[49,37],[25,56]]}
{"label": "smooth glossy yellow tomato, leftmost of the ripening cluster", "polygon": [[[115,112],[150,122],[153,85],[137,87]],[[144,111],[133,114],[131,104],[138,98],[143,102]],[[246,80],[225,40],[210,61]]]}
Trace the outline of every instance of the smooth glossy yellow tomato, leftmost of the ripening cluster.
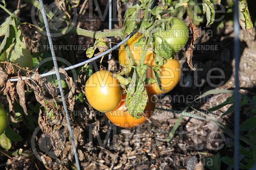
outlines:
{"label": "smooth glossy yellow tomato, leftmost of the ripening cluster", "polygon": [[92,74],[85,83],[85,96],[92,107],[101,112],[116,109],[122,100],[119,82],[106,70]]}

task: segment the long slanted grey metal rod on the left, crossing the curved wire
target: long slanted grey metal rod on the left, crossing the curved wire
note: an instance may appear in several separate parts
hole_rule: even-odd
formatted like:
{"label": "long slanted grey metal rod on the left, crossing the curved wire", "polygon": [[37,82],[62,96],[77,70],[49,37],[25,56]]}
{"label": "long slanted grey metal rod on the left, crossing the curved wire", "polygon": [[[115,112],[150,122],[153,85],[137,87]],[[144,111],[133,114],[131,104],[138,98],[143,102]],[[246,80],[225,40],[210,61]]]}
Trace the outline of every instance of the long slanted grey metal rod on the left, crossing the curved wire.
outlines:
{"label": "long slanted grey metal rod on the left, crossing the curved wire", "polygon": [[68,109],[67,109],[67,105],[66,105],[66,102],[65,102],[65,96],[64,96],[61,81],[60,81],[59,68],[58,68],[55,52],[53,50],[52,37],[51,37],[51,32],[50,32],[50,29],[49,29],[48,22],[47,22],[47,17],[45,15],[45,11],[44,11],[43,0],[39,0],[39,3],[40,3],[41,12],[42,12],[43,19],[44,19],[44,25],[45,25],[45,29],[46,29],[46,33],[47,33],[51,53],[52,53],[52,60],[53,60],[53,64],[54,64],[54,68],[55,68],[55,72],[56,72],[56,76],[57,76],[57,80],[58,80],[58,84],[59,84],[61,100],[62,100],[63,107],[64,107],[64,110],[65,110],[65,115],[66,115],[67,124],[68,124],[68,131],[69,131],[69,135],[70,135],[70,138],[71,138],[73,151],[74,151],[74,155],[75,155],[75,159],[76,159],[76,167],[77,167],[77,170],[80,170],[79,161],[78,161],[77,152],[76,152],[76,145],[75,145],[72,128],[71,128],[70,121],[69,121]]}

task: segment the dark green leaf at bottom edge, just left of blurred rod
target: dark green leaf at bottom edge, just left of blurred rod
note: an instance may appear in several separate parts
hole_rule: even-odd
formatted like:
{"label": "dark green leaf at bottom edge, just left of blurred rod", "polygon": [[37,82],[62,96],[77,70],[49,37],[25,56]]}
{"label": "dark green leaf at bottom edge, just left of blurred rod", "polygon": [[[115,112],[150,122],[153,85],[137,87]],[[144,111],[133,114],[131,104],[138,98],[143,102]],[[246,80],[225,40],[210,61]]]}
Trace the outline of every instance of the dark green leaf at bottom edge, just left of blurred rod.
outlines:
{"label": "dark green leaf at bottom edge, just left of blurred rod", "polygon": [[203,159],[204,161],[204,166],[206,166],[208,169],[211,170],[220,170],[220,153],[217,153],[216,155],[212,156],[206,156]]}

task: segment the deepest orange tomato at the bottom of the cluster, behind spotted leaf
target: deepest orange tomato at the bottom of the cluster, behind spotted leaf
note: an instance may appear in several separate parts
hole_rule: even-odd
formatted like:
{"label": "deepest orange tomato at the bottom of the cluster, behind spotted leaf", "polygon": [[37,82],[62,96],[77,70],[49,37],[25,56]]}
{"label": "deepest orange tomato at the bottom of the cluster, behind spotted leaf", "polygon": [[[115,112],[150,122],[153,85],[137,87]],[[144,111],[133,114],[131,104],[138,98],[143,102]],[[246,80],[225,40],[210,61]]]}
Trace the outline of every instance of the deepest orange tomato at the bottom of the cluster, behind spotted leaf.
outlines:
{"label": "deepest orange tomato at the bottom of the cluster, behind spotted leaf", "polygon": [[[126,94],[123,95],[123,99],[126,98]],[[139,126],[146,122],[147,120],[142,115],[139,119],[134,119],[130,114],[127,108],[125,107],[126,102],[122,101],[120,105],[113,111],[106,113],[108,119],[115,124],[116,126],[124,128],[132,128]],[[156,98],[154,95],[148,94],[148,102],[144,113],[147,118],[149,118],[155,110]]]}

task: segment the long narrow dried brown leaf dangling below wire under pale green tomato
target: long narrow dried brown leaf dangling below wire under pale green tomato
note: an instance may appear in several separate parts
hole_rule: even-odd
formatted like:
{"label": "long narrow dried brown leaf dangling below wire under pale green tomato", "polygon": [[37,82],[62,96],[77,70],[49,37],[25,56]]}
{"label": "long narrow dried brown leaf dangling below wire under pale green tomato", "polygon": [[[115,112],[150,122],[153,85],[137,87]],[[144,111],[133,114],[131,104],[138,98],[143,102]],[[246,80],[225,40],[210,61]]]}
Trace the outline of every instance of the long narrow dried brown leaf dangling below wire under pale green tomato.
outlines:
{"label": "long narrow dried brown leaf dangling below wire under pale green tomato", "polygon": [[26,115],[28,115],[27,112],[27,107],[26,107],[26,98],[25,98],[25,89],[24,89],[25,83],[23,80],[21,80],[21,78],[18,78],[18,82],[16,84],[16,89],[17,89],[17,93],[19,95],[19,102],[20,102],[20,106],[23,108],[24,113]]}

